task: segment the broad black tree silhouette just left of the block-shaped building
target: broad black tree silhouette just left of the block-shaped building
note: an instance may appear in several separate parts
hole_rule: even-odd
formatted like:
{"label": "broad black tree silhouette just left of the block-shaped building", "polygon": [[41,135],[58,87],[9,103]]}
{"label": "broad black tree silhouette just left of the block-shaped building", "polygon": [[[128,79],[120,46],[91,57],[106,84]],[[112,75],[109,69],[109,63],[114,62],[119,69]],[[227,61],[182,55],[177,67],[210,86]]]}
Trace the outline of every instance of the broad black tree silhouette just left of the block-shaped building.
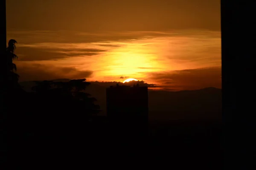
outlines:
{"label": "broad black tree silhouette just left of the block-shaped building", "polygon": [[[32,112],[38,115],[35,119],[39,123],[35,126],[40,125],[41,132],[57,130],[58,134],[85,130],[92,116],[99,113],[99,105],[94,104],[96,99],[82,92],[88,85],[90,83],[86,79],[36,81],[31,101]],[[43,124],[47,124],[47,128]],[[44,127],[43,130],[41,127]]]}

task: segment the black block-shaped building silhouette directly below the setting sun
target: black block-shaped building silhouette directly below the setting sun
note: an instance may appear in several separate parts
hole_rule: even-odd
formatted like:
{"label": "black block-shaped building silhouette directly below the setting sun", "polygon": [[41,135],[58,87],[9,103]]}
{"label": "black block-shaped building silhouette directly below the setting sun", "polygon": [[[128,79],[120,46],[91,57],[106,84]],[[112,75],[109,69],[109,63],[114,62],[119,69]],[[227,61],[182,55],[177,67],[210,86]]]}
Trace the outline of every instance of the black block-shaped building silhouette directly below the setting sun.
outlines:
{"label": "black block-shaped building silhouette directly below the setting sun", "polygon": [[107,88],[107,116],[116,128],[147,133],[148,87],[117,84]]}

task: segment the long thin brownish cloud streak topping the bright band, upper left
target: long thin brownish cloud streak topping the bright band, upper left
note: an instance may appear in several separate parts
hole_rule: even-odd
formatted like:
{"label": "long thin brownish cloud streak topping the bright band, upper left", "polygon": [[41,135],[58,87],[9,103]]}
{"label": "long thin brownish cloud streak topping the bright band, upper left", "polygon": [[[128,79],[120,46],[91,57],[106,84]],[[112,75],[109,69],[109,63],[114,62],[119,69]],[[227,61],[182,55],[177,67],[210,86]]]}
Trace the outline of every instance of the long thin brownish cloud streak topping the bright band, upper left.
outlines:
{"label": "long thin brownish cloud streak topping the bright band, upper left", "polygon": [[52,43],[94,43],[98,42],[102,47],[119,47],[119,45],[109,42],[119,42],[123,40],[138,40],[150,37],[180,36],[181,33],[161,32],[161,31],[7,31],[7,39],[15,39],[19,43],[34,44],[42,42]]}

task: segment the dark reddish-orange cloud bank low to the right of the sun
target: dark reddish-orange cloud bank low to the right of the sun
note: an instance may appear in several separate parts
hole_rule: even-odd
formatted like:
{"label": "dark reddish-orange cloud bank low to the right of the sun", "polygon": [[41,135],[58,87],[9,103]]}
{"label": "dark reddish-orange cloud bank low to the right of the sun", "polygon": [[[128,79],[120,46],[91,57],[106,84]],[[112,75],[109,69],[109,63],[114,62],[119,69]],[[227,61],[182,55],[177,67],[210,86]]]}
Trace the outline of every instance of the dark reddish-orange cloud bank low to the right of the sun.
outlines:
{"label": "dark reddish-orange cloud bank low to the right of the sun", "polygon": [[[195,90],[207,87],[221,88],[221,67],[187,69],[147,73],[149,79],[161,83],[161,88]],[[167,81],[166,80],[171,80]]]}

